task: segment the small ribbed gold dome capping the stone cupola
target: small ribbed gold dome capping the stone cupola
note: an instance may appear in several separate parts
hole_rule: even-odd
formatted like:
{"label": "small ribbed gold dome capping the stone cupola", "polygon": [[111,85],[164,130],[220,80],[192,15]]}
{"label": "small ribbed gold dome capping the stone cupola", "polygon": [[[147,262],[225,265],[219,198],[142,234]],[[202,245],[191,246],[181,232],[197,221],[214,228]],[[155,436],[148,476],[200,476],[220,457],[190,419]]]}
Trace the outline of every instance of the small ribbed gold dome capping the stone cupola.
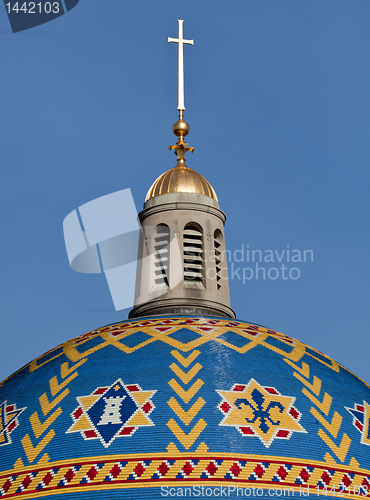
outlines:
{"label": "small ribbed gold dome capping the stone cupola", "polygon": [[202,194],[218,201],[215,190],[207,179],[183,163],[159,176],[149,189],[145,201],[169,193]]}

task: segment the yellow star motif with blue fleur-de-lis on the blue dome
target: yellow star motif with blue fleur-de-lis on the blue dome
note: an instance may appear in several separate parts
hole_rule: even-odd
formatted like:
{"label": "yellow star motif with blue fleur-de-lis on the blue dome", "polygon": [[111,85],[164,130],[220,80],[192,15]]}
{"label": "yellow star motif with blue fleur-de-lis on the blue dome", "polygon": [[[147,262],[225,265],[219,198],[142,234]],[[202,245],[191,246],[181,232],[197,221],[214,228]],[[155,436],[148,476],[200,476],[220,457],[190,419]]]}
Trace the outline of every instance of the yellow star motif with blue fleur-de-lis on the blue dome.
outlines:
{"label": "yellow star motif with blue fleur-de-lis on the blue dome", "polygon": [[[268,389],[268,390],[267,390]],[[254,379],[248,385],[235,384],[230,391],[217,391],[225,414],[220,425],[237,427],[245,436],[257,435],[269,447],[275,438],[289,438],[292,432],[306,432],[299,424],[294,397],[274,388],[264,388]]]}

